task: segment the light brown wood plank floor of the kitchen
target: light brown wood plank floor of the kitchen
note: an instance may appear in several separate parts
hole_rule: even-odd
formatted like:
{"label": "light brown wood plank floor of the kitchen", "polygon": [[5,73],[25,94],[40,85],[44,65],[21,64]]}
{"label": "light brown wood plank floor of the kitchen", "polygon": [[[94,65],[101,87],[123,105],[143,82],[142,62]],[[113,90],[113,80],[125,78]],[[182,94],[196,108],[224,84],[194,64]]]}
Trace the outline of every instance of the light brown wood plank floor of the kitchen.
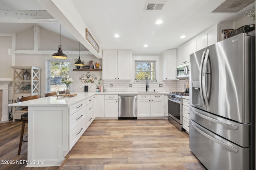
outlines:
{"label": "light brown wood plank floor of the kitchen", "polygon": [[[18,156],[21,122],[0,124],[1,160],[26,160],[27,143]],[[189,149],[189,136],[168,120],[94,120],[61,167],[12,170],[205,170]]]}

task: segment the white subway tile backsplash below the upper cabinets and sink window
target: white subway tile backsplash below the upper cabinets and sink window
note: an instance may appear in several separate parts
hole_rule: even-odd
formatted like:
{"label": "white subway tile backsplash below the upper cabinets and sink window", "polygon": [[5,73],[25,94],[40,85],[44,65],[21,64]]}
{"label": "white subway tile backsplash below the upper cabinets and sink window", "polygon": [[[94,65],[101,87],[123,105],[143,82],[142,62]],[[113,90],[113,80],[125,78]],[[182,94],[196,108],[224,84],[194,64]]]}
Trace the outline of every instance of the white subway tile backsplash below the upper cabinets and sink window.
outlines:
{"label": "white subway tile backsplash below the upper cabinets and sink window", "polygon": [[[110,87],[113,84],[113,87]],[[132,87],[129,87],[132,84]],[[162,84],[163,87],[159,87]],[[158,92],[183,92],[184,84],[189,85],[189,80],[159,80],[159,82],[148,83],[148,91]],[[104,91],[106,92],[140,92],[146,91],[146,83],[134,83],[132,80],[104,80]]]}

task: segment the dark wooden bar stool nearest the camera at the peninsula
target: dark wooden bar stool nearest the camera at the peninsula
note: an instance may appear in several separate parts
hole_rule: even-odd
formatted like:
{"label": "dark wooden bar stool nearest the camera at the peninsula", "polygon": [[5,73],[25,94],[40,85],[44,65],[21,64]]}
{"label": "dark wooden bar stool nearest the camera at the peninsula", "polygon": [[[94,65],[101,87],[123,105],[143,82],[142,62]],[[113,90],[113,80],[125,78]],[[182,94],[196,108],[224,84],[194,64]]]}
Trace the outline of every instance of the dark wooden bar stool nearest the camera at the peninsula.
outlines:
{"label": "dark wooden bar stool nearest the camera at the peninsula", "polygon": [[[33,99],[38,99],[38,95],[34,95],[34,96],[27,96],[27,97],[20,97],[18,98],[18,102],[24,102],[24,101],[27,101],[27,100],[33,100]],[[28,110],[28,107],[22,107],[20,109],[20,111],[22,110]],[[20,150],[21,150],[21,145],[22,145],[22,141],[23,142],[28,142],[28,141],[25,141],[24,139],[28,136],[26,135],[25,137],[23,137],[24,135],[24,129],[25,129],[25,124],[28,123],[28,112],[26,113],[23,113],[21,115],[21,121],[22,121],[22,128],[21,128],[21,133],[20,133],[20,145],[19,145],[19,150],[18,150],[18,155],[20,155]]]}

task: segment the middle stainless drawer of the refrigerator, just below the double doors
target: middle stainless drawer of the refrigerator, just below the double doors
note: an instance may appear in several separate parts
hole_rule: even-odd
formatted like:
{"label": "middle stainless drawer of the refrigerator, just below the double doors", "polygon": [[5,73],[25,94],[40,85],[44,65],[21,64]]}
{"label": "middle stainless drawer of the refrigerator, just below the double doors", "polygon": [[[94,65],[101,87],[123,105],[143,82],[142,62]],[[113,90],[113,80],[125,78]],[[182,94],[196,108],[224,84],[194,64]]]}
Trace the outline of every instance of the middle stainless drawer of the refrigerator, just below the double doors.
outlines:
{"label": "middle stainless drawer of the refrigerator, just below the double doors", "polygon": [[250,125],[248,124],[230,121],[194,107],[190,107],[190,119],[237,145],[250,146]]}

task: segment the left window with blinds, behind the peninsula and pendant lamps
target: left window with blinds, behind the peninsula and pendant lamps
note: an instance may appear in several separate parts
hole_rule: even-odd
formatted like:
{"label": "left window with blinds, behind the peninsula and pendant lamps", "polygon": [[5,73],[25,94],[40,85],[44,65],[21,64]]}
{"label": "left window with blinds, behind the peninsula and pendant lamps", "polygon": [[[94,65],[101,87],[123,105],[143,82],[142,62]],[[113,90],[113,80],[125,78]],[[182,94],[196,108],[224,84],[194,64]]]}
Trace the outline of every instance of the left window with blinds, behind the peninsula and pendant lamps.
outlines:
{"label": "left window with blinds, behind the peninsula and pendant lamps", "polygon": [[46,93],[58,92],[66,89],[61,79],[70,75],[70,61],[47,60],[46,66]]}

